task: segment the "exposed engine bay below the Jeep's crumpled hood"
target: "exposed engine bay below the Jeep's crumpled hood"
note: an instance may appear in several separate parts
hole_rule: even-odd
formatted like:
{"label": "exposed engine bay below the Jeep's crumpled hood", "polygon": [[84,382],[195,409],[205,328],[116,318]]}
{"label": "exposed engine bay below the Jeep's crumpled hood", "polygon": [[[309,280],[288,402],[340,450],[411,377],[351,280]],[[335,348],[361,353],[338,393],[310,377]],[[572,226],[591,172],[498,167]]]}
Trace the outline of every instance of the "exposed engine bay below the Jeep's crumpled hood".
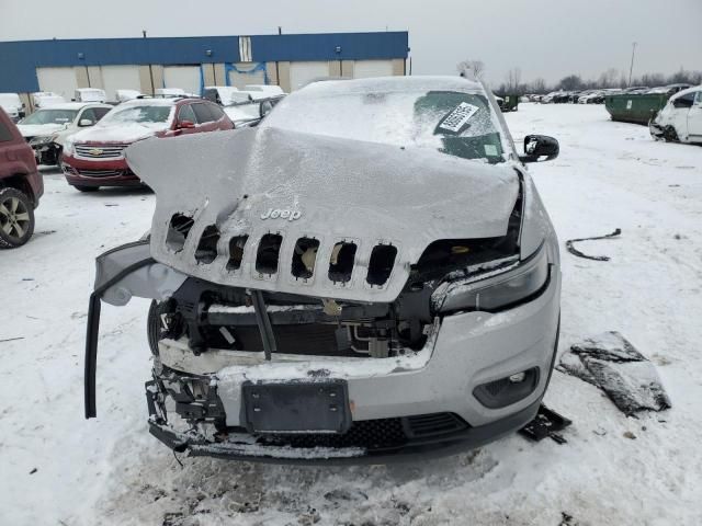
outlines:
{"label": "exposed engine bay below the Jeep's crumpled hood", "polygon": [[[520,203],[507,236],[492,239],[440,240],[431,243],[393,302],[360,302],[258,291],[272,327],[274,352],[313,356],[374,357],[403,355],[426,343],[435,312],[431,296],[446,278],[479,276],[496,262],[514,262],[518,252]],[[313,245],[314,247],[314,245]],[[301,247],[292,272],[308,272],[305,261],[316,248]],[[332,254],[330,268],[340,256]],[[278,265],[278,254],[269,261]],[[264,259],[265,261],[265,259]],[[386,263],[388,260],[386,260]],[[392,261],[389,261],[392,263]],[[486,267],[487,264],[487,267]],[[371,265],[371,268],[376,268]],[[389,275],[383,265],[369,279]],[[330,271],[331,272],[331,271]],[[149,316],[151,347],[160,339],[188,341],[195,355],[208,348],[265,351],[254,305],[257,293],[189,277],[170,299],[154,305]]]}

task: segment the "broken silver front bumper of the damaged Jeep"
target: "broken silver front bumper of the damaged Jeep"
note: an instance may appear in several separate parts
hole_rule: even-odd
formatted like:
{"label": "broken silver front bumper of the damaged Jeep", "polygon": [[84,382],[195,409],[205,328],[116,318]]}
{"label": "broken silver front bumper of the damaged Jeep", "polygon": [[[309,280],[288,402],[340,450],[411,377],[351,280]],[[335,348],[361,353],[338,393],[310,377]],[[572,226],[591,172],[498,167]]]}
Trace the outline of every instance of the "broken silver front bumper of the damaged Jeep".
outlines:
{"label": "broken silver front bumper of the damaged Jeep", "polygon": [[[208,400],[181,398],[179,395],[186,389],[172,389],[173,380],[179,384],[181,375],[192,378],[186,364],[193,362],[183,355],[177,357],[178,351],[167,348],[168,343],[161,344],[163,362],[158,365],[163,370],[157,367],[159,374],[147,384],[150,432],[169,447],[191,455],[313,464],[382,464],[418,455],[451,455],[495,441],[533,419],[548,385],[559,315],[561,283],[556,270],[553,274],[546,289],[528,304],[495,315],[465,312],[444,317],[433,341],[415,356],[362,358],[361,367],[358,358],[229,365],[215,374],[202,375],[202,381],[215,388],[210,390]],[[539,374],[533,389],[514,403],[490,408],[474,395],[478,386],[534,368]],[[301,443],[293,437],[290,442],[271,444],[267,437],[261,439],[262,435],[246,431],[245,384],[310,381],[320,374],[347,382],[353,420],[349,433],[356,433],[353,427],[356,426],[365,438],[372,435],[371,442],[310,434],[310,441]],[[196,411],[204,421],[219,419],[224,424],[219,427],[227,432],[205,438],[200,431],[176,431],[167,423],[166,412],[158,409],[159,400],[168,400],[173,393],[182,404],[178,411],[181,415]],[[211,413],[207,408],[212,408]],[[174,413],[169,408],[168,414]],[[439,423],[429,430],[423,427],[429,434],[419,436],[411,431],[416,419]],[[405,432],[395,442],[384,442],[376,433],[390,433],[388,426],[400,426]],[[376,427],[381,431],[373,431]]]}

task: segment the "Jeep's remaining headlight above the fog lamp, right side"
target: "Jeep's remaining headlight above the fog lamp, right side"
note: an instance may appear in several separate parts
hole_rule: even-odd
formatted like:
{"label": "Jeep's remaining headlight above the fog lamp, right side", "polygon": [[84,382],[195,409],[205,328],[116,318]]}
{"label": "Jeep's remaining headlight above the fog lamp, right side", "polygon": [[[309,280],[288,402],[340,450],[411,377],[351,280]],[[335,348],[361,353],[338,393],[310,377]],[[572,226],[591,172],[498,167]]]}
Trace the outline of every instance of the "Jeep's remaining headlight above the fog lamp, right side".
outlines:
{"label": "Jeep's remaining headlight above the fog lamp, right side", "polygon": [[449,282],[434,291],[432,304],[440,312],[503,309],[541,290],[548,281],[548,259],[542,243],[534,255],[507,266],[503,272],[492,271],[488,277]]}

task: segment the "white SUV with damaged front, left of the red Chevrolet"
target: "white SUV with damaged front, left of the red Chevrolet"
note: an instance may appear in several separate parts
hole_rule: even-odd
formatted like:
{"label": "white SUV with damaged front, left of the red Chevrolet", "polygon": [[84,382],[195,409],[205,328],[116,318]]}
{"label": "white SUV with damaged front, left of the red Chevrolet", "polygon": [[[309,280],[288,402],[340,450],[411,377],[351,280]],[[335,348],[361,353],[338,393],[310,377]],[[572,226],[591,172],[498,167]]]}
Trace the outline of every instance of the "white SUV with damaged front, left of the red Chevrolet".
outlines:
{"label": "white SUV with damaged front, left of the red Chevrolet", "polygon": [[93,126],[112,106],[84,102],[65,102],[39,108],[18,124],[39,164],[58,164],[66,138]]}

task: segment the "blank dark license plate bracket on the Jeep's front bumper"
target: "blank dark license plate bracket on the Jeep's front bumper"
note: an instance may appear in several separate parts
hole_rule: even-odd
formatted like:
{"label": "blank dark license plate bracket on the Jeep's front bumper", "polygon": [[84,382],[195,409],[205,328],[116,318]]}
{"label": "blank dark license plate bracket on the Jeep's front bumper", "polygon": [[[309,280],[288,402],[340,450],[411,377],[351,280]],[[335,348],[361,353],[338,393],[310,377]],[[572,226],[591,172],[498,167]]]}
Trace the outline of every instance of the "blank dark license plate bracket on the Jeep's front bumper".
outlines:
{"label": "blank dark license plate bracket on the Jeep's front bumper", "polygon": [[346,433],[351,426],[346,380],[252,382],[241,386],[250,433]]}

